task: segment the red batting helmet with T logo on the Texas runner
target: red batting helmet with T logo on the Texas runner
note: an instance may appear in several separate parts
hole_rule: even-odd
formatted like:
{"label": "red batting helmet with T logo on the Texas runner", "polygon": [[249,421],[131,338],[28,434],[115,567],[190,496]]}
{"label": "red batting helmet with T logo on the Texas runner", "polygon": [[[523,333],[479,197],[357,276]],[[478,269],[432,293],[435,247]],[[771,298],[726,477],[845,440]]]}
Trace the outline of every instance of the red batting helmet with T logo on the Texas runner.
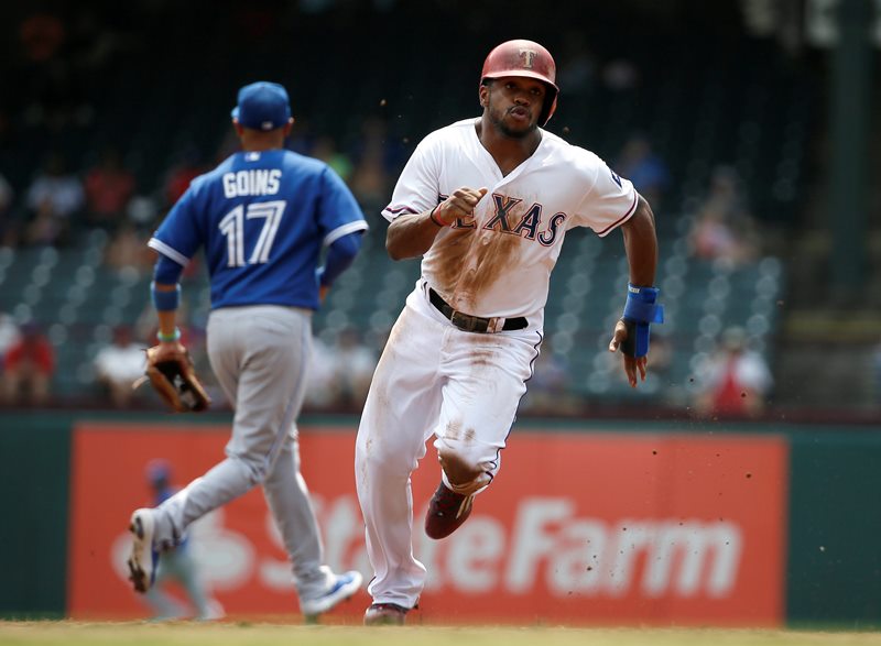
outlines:
{"label": "red batting helmet with T logo on the Texas runner", "polygon": [[483,72],[480,84],[487,78],[501,78],[503,76],[526,76],[537,78],[547,87],[544,106],[539,113],[539,125],[547,123],[557,109],[557,94],[559,88],[554,83],[557,76],[557,66],[551,52],[532,41],[508,41],[497,46],[489,53],[483,62]]}

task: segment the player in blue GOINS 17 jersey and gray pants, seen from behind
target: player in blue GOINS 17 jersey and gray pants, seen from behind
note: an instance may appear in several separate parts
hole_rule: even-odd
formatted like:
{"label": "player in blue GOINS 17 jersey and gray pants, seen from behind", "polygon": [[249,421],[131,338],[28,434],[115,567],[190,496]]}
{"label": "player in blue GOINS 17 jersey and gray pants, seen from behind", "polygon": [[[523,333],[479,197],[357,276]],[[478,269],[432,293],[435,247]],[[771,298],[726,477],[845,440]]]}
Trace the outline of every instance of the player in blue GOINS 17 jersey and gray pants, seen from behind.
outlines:
{"label": "player in blue GOINS 17 jersey and gray pants, seen from behind", "polygon": [[[210,275],[208,357],[235,408],[226,459],[155,508],[137,510],[129,569],[150,589],[163,548],[211,510],[263,486],[293,563],[306,617],[355,594],[357,571],[335,574],[300,473],[296,418],[312,349],[312,313],[351,263],[367,230],[349,189],[326,164],[283,149],[293,124],[285,89],[239,90],[232,123],[242,151],[193,180],[150,240],[160,255],[152,297],[155,362],[178,360],[178,280],[199,248]],[[327,247],[319,267],[322,248]]]}

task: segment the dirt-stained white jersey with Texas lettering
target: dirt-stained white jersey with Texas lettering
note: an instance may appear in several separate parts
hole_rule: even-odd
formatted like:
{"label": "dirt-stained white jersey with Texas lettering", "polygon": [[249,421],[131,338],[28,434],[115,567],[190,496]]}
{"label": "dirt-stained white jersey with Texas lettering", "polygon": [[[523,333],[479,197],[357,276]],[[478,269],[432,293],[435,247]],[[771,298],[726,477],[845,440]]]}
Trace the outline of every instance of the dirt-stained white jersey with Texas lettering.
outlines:
{"label": "dirt-stained white jersey with Texas lettering", "polygon": [[481,317],[525,316],[541,327],[551,271],[566,231],[600,237],[637,210],[633,185],[594,153],[542,130],[535,152],[502,176],[480,143],[476,119],[428,134],[407,162],[382,215],[434,208],[457,188],[487,187],[474,221],[442,230],[422,277],[455,309]]}

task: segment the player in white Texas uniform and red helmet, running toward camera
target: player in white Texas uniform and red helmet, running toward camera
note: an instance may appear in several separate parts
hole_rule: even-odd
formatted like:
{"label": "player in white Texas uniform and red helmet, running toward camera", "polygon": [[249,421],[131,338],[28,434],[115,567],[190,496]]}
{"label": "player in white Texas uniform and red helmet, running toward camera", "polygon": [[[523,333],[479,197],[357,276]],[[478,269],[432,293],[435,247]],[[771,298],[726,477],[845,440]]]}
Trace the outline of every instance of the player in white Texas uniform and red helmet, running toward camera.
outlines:
{"label": "player in white Texas uniform and red helmet, running toward camera", "polygon": [[557,91],[542,45],[496,47],[480,77],[482,116],[428,134],[382,211],[391,258],[423,260],[358,429],[356,483],[376,572],[366,624],[403,624],[425,582],[410,486],[425,441],[434,436],[442,468],[431,538],[455,532],[499,472],[542,343],[551,271],[574,227],[623,232],[630,285],[609,351],[622,350],[631,386],[645,379],[649,326],[662,320],[654,216],[599,157],[541,128]]}

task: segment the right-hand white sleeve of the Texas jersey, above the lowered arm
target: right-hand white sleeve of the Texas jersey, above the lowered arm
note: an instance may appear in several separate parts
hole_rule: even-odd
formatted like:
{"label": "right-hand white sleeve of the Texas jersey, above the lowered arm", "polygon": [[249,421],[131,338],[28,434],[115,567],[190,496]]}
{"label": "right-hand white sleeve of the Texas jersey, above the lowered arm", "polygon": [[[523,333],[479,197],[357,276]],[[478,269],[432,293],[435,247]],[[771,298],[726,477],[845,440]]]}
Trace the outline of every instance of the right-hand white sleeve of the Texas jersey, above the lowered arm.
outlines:
{"label": "right-hand white sleeve of the Texas jersey, above the lowered arm", "polygon": [[637,211],[639,194],[629,179],[619,177],[595,156],[596,175],[575,213],[574,226],[589,227],[603,238],[627,222]]}

